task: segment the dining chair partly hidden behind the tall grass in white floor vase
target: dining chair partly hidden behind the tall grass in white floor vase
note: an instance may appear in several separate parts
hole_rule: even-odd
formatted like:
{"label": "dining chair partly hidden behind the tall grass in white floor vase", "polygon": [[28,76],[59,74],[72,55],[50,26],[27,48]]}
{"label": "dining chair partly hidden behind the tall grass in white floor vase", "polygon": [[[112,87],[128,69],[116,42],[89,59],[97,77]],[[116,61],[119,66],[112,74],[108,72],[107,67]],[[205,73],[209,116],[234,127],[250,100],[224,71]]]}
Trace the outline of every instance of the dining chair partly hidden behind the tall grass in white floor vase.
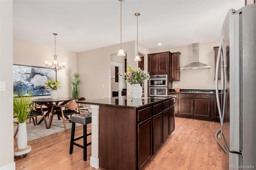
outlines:
{"label": "dining chair partly hidden behind the tall grass in white floor vase", "polygon": [[[29,108],[32,108],[32,111],[30,112],[30,114],[28,115],[28,117],[26,119],[32,119],[32,121],[34,123],[34,126],[36,126],[37,117],[42,116],[43,119],[44,119],[44,124],[45,124],[46,128],[48,128],[47,123],[46,123],[46,119],[45,119],[45,116],[44,116],[43,106],[44,105],[37,105],[36,103],[31,103]],[[34,118],[36,119],[36,121],[35,121]],[[17,129],[14,133],[14,136],[13,136],[14,138],[16,137],[16,134],[18,133],[18,128],[19,128],[19,123],[18,122],[15,122],[15,123],[18,124],[18,127],[17,127]]]}

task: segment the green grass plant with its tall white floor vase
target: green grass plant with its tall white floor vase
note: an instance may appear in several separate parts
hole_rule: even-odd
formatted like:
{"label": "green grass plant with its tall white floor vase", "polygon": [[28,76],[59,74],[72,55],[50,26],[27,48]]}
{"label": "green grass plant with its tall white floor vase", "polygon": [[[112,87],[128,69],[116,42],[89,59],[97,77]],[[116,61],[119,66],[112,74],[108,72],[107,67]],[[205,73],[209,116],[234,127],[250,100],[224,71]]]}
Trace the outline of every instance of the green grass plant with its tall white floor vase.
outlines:
{"label": "green grass plant with its tall white floor vase", "polygon": [[25,149],[28,145],[27,140],[27,129],[26,129],[26,119],[32,111],[30,108],[30,103],[32,101],[32,95],[24,96],[24,90],[18,91],[18,97],[14,95],[13,99],[13,114],[14,117],[19,122],[18,125],[18,149]]}

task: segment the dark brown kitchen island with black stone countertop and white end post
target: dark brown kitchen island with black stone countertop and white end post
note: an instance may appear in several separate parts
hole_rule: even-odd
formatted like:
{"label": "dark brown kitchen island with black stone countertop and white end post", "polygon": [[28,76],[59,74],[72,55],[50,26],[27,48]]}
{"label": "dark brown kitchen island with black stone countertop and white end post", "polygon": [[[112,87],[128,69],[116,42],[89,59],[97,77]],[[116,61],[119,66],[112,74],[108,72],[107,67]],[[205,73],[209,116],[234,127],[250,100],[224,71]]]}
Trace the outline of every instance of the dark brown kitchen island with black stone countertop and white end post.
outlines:
{"label": "dark brown kitchen island with black stone countertop and white end post", "polygon": [[142,169],[174,130],[174,96],[78,101],[92,108],[90,165]]}

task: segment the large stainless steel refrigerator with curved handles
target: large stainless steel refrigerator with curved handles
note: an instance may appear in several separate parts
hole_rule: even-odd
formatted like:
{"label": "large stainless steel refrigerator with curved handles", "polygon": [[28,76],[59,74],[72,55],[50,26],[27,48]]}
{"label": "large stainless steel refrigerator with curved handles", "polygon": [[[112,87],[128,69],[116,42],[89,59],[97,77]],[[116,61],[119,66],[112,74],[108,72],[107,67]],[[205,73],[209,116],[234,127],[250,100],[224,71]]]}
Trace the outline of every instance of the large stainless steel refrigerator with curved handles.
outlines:
{"label": "large stainless steel refrigerator with curved handles", "polygon": [[256,4],[228,11],[215,77],[223,169],[256,168]]}

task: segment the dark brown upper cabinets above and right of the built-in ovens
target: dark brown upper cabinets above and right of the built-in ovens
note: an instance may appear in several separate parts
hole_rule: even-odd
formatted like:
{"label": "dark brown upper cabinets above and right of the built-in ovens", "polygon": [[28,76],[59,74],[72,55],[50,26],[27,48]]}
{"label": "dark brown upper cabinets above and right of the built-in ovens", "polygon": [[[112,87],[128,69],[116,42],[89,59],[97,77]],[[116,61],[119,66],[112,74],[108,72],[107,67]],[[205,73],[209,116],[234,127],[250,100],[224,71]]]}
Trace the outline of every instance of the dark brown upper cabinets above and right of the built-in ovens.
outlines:
{"label": "dark brown upper cabinets above and right of the built-in ovens", "polygon": [[180,52],[170,51],[148,54],[150,75],[167,74],[170,81],[180,81]]}

